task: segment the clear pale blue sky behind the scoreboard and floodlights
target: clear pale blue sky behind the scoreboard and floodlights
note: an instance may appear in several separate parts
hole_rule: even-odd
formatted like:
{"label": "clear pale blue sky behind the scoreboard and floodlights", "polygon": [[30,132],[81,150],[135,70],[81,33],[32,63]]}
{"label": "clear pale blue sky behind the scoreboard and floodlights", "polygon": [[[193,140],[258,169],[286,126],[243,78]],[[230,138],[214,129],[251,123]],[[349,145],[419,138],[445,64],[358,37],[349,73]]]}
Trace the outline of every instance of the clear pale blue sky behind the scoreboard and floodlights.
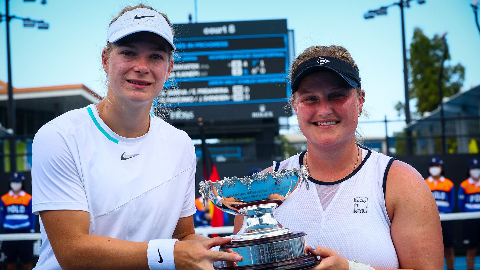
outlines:
{"label": "clear pale blue sky behind the scoreboard and floodlights", "polygon": [[[166,13],[173,23],[187,23],[194,11],[193,0],[145,0]],[[342,45],[360,68],[370,120],[398,119],[393,109],[404,101],[400,11],[365,20],[369,9],[391,4],[391,0],[198,0],[198,22],[287,19],[295,31],[296,53],[312,45]],[[0,12],[5,12],[4,0]],[[20,17],[44,20],[48,30],[24,28],[21,20],[11,22],[12,82],[15,87],[84,84],[104,93],[105,74],[100,52],[106,43],[110,20],[132,0],[47,0],[46,5],[10,0],[10,12]],[[463,89],[480,84],[480,33],[470,0],[427,0],[411,2],[405,10],[407,46],[413,29],[420,27],[432,37],[448,31],[452,56],[447,63],[466,67]],[[194,18],[195,19],[195,18]],[[0,51],[6,52],[5,22],[0,23]],[[6,56],[1,53],[0,80],[6,81]],[[414,109],[412,103],[411,108]],[[368,121],[362,118],[361,121]],[[403,123],[389,124],[389,133]],[[360,124],[365,136],[383,136],[383,124]]]}

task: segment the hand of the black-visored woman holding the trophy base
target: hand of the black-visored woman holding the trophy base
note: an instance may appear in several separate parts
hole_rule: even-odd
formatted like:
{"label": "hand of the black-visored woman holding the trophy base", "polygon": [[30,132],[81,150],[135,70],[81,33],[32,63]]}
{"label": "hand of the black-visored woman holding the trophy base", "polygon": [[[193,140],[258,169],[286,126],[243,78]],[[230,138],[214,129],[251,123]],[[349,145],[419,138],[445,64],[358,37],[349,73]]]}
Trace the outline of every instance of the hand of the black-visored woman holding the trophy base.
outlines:
{"label": "hand of the black-visored woman holding the trophy base", "polygon": [[307,246],[305,252],[321,257],[320,264],[308,270],[348,270],[348,260],[333,249],[323,246]]}

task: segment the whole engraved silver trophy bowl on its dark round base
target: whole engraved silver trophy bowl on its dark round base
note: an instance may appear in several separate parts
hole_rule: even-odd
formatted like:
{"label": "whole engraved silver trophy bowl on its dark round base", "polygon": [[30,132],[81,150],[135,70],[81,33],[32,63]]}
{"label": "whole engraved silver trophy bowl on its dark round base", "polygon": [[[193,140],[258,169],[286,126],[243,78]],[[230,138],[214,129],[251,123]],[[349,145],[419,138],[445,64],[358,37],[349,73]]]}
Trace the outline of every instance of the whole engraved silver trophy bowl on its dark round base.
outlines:
{"label": "whole engraved silver trophy bowl on its dark round base", "polygon": [[[224,212],[243,216],[232,242],[219,250],[239,254],[237,263],[220,262],[220,270],[300,270],[320,263],[305,254],[304,232],[292,232],[275,218],[274,210],[287,203],[298,188],[309,188],[305,166],[298,169],[200,182],[200,194]],[[303,186],[303,187],[302,187]]]}

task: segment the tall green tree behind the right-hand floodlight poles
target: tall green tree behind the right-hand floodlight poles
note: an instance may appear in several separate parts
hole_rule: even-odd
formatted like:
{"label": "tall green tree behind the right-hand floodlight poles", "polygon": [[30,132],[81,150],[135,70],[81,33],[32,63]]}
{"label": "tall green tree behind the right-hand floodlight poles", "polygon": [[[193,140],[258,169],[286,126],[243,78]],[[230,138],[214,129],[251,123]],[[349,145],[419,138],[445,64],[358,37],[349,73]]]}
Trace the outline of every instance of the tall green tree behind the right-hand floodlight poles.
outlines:
{"label": "tall green tree behind the right-hand floodlight poles", "polygon": [[[410,98],[417,101],[417,111],[412,112],[412,115],[422,116],[424,112],[435,110],[438,107],[438,73],[443,53],[444,41],[438,38],[438,35],[430,39],[423,34],[420,28],[415,28],[408,59]],[[450,60],[448,51],[445,60]],[[444,64],[442,75],[444,97],[458,93],[464,80],[464,66],[460,63],[455,66]],[[403,112],[403,108],[401,102],[395,105],[399,114]]]}

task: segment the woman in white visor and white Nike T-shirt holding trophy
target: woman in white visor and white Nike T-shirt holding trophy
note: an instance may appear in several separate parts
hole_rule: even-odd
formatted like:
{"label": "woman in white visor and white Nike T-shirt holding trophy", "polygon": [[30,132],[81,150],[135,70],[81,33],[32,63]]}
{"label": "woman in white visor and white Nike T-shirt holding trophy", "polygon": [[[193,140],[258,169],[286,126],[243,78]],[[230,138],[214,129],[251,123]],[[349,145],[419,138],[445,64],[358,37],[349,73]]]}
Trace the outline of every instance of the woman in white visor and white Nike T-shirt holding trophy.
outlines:
{"label": "woman in white visor and white Nike T-shirt holding trophy", "polygon": [[229,238],[194,234],[195,149],[150,112],[174,64],[167,16],[128,6],[107,36],[107,97],[35,136],[36,269],[212,270],[217,260],[240,261],[209,250]]}

